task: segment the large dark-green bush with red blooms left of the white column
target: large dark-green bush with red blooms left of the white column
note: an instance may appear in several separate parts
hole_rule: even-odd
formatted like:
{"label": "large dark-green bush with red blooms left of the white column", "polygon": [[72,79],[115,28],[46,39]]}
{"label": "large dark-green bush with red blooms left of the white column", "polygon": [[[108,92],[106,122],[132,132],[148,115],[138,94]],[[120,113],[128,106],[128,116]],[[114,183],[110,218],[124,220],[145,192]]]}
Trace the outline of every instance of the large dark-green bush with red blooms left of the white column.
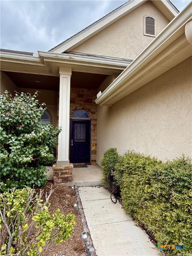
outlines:
{"label": "large dark-green bush with red blooms left of the white column", "polygon": [[34,95],[5,91],[0,96],[1,189],[42,186],[47,180],[45,165],[55,161],[53,148],[60,129],[41,122],[45,103]]}

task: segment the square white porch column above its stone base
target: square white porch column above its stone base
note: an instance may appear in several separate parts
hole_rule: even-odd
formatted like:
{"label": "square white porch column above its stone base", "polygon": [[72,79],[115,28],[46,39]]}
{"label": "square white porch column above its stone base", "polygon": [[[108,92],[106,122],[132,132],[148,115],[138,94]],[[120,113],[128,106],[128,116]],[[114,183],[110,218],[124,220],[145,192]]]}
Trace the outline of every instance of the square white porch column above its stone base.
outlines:
{"label": "square white porch column above its stone base", "polygon": [[71,68],[59,68],[59,127],[57,165],[69,165],[69,112]]}

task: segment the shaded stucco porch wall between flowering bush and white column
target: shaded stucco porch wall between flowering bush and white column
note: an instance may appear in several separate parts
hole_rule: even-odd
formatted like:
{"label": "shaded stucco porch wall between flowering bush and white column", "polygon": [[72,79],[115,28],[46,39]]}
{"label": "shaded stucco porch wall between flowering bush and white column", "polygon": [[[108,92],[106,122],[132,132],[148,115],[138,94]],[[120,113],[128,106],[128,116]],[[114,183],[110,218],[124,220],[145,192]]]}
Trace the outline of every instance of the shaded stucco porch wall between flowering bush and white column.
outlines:
{"label": "shaded stucco porch wall between flowering bush and white column", "polygon": [[[39,103],[46,103],[47,112],[51,116],[52,124],[57,125],[57,91],[52,90],[39,90],[30,88],[17,88],[18,92],[31,93],[34,94],[35,91],[39,91],[38,100]],[[55,107],[54,107],[55,106]]]}

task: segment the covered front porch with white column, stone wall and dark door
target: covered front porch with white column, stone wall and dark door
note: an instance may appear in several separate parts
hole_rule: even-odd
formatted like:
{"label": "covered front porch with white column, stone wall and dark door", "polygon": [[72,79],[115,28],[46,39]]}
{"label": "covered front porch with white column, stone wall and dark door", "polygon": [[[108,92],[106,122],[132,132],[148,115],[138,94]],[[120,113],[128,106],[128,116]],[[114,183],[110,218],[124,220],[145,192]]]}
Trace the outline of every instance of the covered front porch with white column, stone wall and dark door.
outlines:
{"label": "covered front porch with white column, stone wall and dark door", "polygon": [[[100,184],[95,100],[129,64],[129,60],[73,53],[38,52],[32,56],[1,52],[1,94],[6,89],[11,93],[39,91],[48,121],[62,127],[50,175],[55,184]],[[73,168],[75,163],[88,167]]]}

